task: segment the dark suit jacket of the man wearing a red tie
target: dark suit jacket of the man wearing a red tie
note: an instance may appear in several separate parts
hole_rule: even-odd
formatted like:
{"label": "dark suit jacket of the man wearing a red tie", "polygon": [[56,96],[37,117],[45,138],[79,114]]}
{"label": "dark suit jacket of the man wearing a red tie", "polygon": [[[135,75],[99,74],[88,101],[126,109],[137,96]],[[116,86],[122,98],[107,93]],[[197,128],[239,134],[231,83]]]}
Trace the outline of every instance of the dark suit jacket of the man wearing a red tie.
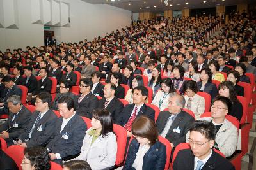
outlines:
{"label": "dark suit jacket of the man wearing a red tie", "polygon": [[[128,122],[129,118],[132,115],[132,110],[134,106],[135,104],[127,104],[122,112],[119,114],[116,124],[124,127],[124,125]],[[146,104],[143,104],[140,111],[137,113],[136,118],[140,117],[141,115],[145,115],[155,121],[155,111]]]}

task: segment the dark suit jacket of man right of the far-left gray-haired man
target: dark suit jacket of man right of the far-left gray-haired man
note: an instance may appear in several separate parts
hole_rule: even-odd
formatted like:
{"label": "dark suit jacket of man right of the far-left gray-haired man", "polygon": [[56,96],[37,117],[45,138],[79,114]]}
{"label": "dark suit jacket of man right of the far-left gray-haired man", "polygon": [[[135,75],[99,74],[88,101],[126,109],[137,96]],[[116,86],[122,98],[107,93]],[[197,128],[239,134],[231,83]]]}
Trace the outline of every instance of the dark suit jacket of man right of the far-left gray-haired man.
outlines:
{"label": "dark suit jacket of man right of the far-left gray-haired man", "polygon": [[18,137],[18,139],[26,143],[28,147],[47,145],[54,132],[52,131],[52,129],[54,129],[56,125],[57,116],[51,109],[49,109],[48,111],[46,111],[44,116],[40,118],[38,124],[36,124],[29,141],[24,141],[25,139],[29,138],[29,132],[35,124],[38,115],[39,111],[35,111],[34,113],[32,113],[31,121],[28,125],[28,128]]}

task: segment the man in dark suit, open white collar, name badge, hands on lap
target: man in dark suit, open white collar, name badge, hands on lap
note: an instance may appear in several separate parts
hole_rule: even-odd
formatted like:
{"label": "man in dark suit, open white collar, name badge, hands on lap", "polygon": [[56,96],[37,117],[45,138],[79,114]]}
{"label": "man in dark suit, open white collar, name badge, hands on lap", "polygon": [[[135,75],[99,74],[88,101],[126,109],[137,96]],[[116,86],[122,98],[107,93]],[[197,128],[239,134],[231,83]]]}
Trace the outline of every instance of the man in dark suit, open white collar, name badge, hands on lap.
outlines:
{"label": "man in dark suit, open white collar, name badge, hands on lap", "polygon": [[49,149],[51,160],[62,164],[63,158],[80,153],[87,127],[76,113],[71,97],[61,97],[58,108],[61,117],[56,122],[54,134],[46,148]]}

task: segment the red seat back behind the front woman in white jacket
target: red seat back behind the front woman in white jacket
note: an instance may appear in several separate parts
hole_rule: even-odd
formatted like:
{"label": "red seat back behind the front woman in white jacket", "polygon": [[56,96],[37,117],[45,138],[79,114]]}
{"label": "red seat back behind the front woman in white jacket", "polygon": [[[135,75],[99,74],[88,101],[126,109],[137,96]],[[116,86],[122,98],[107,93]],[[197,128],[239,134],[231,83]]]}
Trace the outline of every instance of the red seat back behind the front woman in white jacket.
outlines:
{"label": "red seat back behind the front woman in white jacket", "polygon": [[127,133],[124,127],[113,124],[114,133],[116,134],[117,152],[116,152],[116,166],[124,162],[125,146],[127,142]]}

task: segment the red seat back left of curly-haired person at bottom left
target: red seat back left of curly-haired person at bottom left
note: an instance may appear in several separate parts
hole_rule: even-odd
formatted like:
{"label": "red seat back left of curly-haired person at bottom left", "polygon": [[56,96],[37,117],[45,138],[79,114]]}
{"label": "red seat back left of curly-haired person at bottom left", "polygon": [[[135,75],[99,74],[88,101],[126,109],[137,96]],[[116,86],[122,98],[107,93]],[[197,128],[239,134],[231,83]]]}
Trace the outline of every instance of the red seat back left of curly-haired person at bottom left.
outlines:
{"label": "red seat back left of curly-haired person at bottom left", "polygon": [[12,145],[5,150],[5,153],[9,155],[9,157],[15,161],[19,169],[21,169],[21,163],[24,158],[24,148],[22,146]]}

